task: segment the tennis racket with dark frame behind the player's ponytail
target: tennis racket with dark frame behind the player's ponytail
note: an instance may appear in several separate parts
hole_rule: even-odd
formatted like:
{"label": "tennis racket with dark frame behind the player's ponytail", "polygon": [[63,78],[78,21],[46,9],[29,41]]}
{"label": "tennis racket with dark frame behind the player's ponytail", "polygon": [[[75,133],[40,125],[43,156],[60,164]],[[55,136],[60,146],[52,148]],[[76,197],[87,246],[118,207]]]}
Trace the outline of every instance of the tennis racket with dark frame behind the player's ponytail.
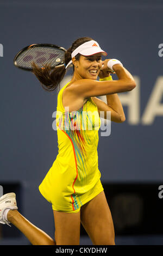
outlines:
{"label": "tennis racket with dark frame behind the player's ponytail", "polygon": [[34,62],[40,68],[50,64],[55,66],[64,65],[66,49],[52,44],[33,44],[24,47],[14,57],[14,65],[19,69],[32,71],[31,63]]}

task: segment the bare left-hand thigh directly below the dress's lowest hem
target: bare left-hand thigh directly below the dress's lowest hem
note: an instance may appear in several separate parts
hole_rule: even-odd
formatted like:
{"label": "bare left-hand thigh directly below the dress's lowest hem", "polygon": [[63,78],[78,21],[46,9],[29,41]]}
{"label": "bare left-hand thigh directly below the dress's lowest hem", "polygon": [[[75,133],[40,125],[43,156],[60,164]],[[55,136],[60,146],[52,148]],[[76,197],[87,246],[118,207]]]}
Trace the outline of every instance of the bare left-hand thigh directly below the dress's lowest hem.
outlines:
{"label": "bare left-hand thigh directly below the dress's lowest hem", "polygon": [[80,211],[67,213],[53,210],[57,245],[79,245]]}

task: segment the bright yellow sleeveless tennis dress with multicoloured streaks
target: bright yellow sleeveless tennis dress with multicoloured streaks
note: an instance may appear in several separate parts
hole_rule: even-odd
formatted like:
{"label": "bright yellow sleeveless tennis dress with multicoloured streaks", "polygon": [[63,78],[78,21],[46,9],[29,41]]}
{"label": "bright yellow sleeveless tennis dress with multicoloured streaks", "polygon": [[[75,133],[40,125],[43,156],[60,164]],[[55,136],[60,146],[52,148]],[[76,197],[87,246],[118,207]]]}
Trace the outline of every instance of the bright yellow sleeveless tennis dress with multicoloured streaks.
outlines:
{"label": "bright yellow sleeveless tennis dress with multicoloured streaks", "polygon": [[80,207],[104,190],[98,169],[98,109],[89,97],[78,111],[68,111],[58,93],[56,128],[58,155],[39,186],[53,210],[78,212]]}

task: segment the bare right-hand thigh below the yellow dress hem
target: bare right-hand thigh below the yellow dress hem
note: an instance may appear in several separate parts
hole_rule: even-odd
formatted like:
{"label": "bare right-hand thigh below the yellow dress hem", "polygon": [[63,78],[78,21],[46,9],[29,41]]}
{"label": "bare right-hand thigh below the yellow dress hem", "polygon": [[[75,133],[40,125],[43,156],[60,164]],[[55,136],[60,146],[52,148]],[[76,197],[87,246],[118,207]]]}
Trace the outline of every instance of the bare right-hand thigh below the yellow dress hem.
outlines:
{"label": "bare right-hand thigh below the yellow dress hem", "polygon": [[104,191],[80,208],[80,220],[93,245],[114,245],[115,231]]}

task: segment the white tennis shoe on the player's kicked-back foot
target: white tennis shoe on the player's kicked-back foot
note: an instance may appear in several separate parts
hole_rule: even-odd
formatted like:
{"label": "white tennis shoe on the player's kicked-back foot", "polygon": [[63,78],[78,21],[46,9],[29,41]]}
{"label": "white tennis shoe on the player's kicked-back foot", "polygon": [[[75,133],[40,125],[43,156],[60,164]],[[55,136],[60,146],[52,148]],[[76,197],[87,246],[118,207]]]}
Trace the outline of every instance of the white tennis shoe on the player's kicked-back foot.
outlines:
{"label": "white tennis shoe on the player's kicked-back foot", "polygon": [[4,194],[0,197],[0,223],[9,225],[10,222],[7,219],[9,210],[17,210],[15,193]]}

